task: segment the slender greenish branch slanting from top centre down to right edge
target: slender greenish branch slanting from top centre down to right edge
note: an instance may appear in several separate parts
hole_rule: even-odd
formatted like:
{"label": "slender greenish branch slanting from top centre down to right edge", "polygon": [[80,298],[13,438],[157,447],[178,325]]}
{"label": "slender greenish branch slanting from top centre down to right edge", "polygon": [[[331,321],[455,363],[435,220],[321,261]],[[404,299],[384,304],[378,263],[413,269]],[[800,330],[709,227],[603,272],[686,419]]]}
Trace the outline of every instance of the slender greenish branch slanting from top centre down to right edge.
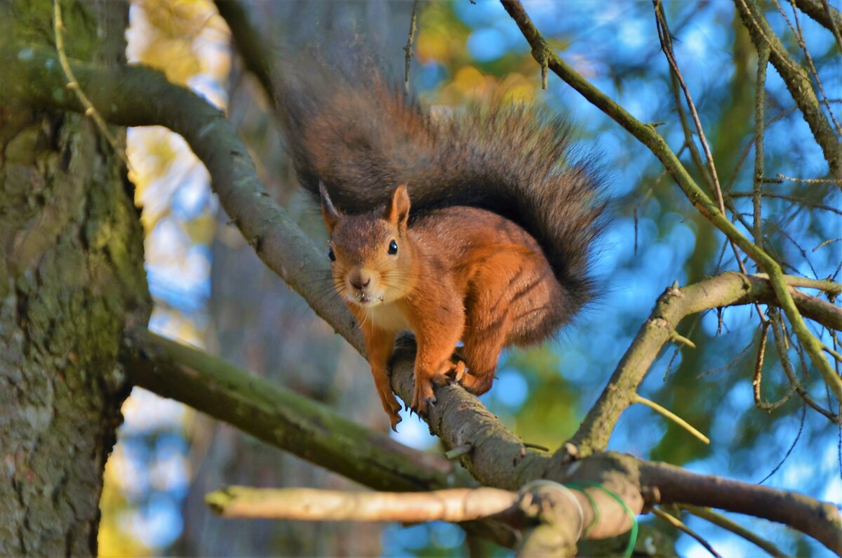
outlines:
{"label": "slender greenish branch slanting from top centre down to right edge", "polygon": [[[738,3],[750,1],[736,0]],[[592,83],[589,83],[578,72],[573,70],[572,67],[569,67],[557,55],[556,51],[547,44],[544,37],[537,30],[535,24],[532,23],[529,14],[526,13],[520,0],[501,0],[501,3],[503,3],[504,8],[512,19],[514,19],[514,22],[518,24],[521,33],[523,33],[525,39],[529,42],[532,47],[532,56],[536,61],[542,66],[547,64],[559,78],[562,78],[573,89],[576,89],[579,94],[582,94],[585,99],[588,99],[591,104],[605,112],[606,115],[609,115],[614,121],[626,128],[638,141],[647,146],[661,161],[664,168],[673,177],[681,190],[685,192],[685,196],[688,197],[690,203],[711,224],[722,231],[729,240],[737,244],[746,255],[749,255],[761,270],[769,274],[770,282],[775,289],[775,295],[780,301],[781,309],[784,310],[786,318],[790,320],[792,330],[797,335],[798,341],[801,342],[804,350],[807,351],[807,355],[809,355],[815,367],[822,373],[825,383],[833,391],[836,399],[842,400],[842,379],[836,375],[834,369],[830,367],[828,359],[824,357],[821,342],[807,329],[807,325],[804,323],[801,314],[799,314],[796,304],[793,302],[791,294],[786,287],[786,282],[782,278],[783,271],[781,270],[781,265],[763,249],[760,249],[756,244],[743,236],[743,233],[740,233],[738,228],[719,211],[717,205],[695,184],[687,169],[681,164],[679,158],[675,156],[675,153],[669,148],[663,137],[655,131],[654,126],[647,126],[641,121],[638,121],[627,110],[617,105],[606,94],[600,91],[600,89],[594,87]],[[807,87],[810,87],[809,83],[807,83]],[[813,99],[815,99],[815,95],[813,95]],[[818,100],[815,100],[814,105],[818,110]],[[802,108],[803,110],[804,108]],[[823,118],[823,115],[820,116]],[[805,115],[805,118],[807,118],[807,115]],[[826,119],[824,119],[824,123],[832,136],[833,130],[829,128]],[[817,141],[820,144],[824,143],[823,148],[828,148],[825,150],[825,158],[828,159],[831,174],[842,180],[842,150],[839,149],[839,142],[835,138],[832,141],[828,140],[827,137],[824,137],[823,140],[819,140],[817,137]]]}

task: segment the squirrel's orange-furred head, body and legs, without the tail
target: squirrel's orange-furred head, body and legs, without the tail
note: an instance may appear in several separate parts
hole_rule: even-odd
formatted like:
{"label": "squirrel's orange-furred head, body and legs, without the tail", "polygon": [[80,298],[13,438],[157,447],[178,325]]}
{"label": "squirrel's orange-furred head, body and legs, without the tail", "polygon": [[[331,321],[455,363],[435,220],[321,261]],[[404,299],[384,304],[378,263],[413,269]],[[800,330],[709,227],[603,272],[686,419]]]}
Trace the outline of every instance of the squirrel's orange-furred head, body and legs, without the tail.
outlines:
{"label": "squirrel's orange-furred head, body and legs, without the tail", "polygon": [[[418,342],[412,408],[425,414],[433,384],[455,378],[474,394],[491,388],[500,351],[551,335],[567,315],[564,295],[536,240],[498,214],[445,207],[408,225],[409,196],[386,209],[344,215],[322,191],[331,231],[333,282],[360,323],[383,409],[400,417],[387,368],[395,335]],[[396,248],[397,249],[394,249]],[[453,362],[456,343],[465,363]]]}

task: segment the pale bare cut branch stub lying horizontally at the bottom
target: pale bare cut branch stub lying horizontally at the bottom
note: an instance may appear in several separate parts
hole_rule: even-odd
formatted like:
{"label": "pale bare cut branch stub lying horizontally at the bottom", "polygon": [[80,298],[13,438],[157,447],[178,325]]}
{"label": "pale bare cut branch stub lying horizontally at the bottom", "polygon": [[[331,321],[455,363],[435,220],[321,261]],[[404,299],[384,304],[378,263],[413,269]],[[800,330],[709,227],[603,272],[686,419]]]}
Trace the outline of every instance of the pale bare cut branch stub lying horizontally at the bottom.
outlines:
{"label": "pale bare cut branch stub lying horizontally at the bottom", "polygon": [[[597,518],[583,492],[546,480],[530,483],[520,493],[486,487],[400,493],[231,486],[206,495],[205,502],[226,518],[402,523],[496,519],[522,529],[518,556],[573,556],[578,540],[594,533],[585,526]],[[625,530],[624,518],[599,517],[600,523],[621,529],[617,534]]]}

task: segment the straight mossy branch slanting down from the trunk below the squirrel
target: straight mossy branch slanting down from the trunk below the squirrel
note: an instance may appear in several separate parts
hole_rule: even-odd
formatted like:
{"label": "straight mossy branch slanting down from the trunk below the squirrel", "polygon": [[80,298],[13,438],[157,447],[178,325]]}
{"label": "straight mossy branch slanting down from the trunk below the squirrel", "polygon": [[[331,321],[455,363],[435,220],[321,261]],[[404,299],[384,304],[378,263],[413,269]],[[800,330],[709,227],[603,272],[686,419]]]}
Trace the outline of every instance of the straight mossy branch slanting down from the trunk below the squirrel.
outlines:
{"label": "straight mossy branch slanting down from the trunk below the squirrel", "polygon": [[317,404],[147,330],[130,330],[120,354],[134,384],[179,400],[301,459],[381,491],[452,486],[443,457],[397,443]]}

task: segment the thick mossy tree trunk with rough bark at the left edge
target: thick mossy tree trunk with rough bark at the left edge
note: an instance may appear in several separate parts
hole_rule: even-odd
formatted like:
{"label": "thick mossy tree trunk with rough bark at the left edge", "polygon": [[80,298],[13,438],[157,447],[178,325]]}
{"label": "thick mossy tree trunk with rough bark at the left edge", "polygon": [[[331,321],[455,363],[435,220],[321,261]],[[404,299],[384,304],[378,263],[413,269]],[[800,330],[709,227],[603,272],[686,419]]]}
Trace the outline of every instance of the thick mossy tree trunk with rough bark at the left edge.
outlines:
{"label": "thick mossy tree trunk with rough bark at the left edge", "polygon": [[[61,8],[68,56],[125,62],[127,3]],[[0,2],[0,43],[54,46],[52,14]],[[96,554],[118,349],[151,306],[132,197],[93,121],[0,105],[0,555]]]}

